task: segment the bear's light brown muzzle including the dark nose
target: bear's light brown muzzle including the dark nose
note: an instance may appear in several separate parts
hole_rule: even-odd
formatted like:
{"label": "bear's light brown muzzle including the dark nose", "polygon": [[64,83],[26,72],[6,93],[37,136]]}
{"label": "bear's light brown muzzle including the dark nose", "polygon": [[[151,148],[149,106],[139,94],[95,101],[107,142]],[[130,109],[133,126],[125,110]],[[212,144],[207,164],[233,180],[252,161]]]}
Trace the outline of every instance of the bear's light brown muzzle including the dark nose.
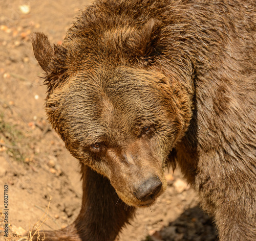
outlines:
{"label": "bear's light brown muzzle including the dark nose", "polygon": [[111,149],[106,154],[111,170],[107,177],[127,205],[151,206],[166,189],[162,160],[147,148]]}

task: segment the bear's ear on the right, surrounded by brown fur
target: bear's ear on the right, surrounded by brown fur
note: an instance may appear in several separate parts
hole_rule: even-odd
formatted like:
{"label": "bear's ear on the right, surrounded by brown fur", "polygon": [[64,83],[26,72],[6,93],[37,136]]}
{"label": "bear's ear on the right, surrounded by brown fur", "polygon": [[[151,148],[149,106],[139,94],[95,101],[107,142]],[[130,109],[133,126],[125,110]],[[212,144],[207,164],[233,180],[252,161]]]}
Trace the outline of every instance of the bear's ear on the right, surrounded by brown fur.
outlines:
{"label": "bear's ear on the right, surrounded by brown fur", "polygon": [[161,21],[150,19],[140,31],[130,39],[130,49],[137,56],[148,57],[157,52],[161,38]]}

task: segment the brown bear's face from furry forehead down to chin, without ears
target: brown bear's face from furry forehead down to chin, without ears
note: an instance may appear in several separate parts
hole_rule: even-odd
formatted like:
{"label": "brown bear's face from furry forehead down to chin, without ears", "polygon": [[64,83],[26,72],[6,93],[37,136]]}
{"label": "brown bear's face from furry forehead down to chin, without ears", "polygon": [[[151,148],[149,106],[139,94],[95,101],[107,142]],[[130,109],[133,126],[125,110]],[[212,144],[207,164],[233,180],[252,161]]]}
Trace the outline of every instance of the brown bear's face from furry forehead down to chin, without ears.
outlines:
{"label": "brown bear's face from furry forehead down to chin, without ears", "polygon": [[127,66],[100,68],[93,77],[82,71],[53,89],[46,102],[67,149],[109,178],[127,205],[151,205],[165,190],[163,167],[183,132],[175,94],[164,79]]}

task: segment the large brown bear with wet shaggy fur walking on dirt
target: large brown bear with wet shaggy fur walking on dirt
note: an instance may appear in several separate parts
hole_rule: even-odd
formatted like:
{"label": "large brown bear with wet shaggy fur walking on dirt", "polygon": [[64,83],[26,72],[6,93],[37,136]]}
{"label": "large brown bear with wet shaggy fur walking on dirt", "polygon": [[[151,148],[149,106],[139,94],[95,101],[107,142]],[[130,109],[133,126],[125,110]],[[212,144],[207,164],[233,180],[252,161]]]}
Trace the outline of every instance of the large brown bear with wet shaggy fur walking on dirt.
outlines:
{"label": "large brown bear with wet shaggy fur walking on dirt", "polygon": [[83,183],[78,218],[46,240],[114,240],[168,164],[221,241],[256,240],[255,0],[98,0],[61,45],[32,43]]}

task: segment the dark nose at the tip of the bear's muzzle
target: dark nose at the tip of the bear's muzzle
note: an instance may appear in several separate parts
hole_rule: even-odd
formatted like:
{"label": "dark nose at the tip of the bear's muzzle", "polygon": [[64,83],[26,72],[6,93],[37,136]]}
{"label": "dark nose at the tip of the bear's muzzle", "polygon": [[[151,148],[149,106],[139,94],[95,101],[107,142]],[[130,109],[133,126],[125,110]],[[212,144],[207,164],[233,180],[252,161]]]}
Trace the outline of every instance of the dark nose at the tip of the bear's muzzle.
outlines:
{"label": "dark nose at the tip of the bear's muzzle", "polygon": [[162,187],[159,177],[148,178],[138,188],[135,189],[134,195],[140,201],[148,201],[154,199]]}

